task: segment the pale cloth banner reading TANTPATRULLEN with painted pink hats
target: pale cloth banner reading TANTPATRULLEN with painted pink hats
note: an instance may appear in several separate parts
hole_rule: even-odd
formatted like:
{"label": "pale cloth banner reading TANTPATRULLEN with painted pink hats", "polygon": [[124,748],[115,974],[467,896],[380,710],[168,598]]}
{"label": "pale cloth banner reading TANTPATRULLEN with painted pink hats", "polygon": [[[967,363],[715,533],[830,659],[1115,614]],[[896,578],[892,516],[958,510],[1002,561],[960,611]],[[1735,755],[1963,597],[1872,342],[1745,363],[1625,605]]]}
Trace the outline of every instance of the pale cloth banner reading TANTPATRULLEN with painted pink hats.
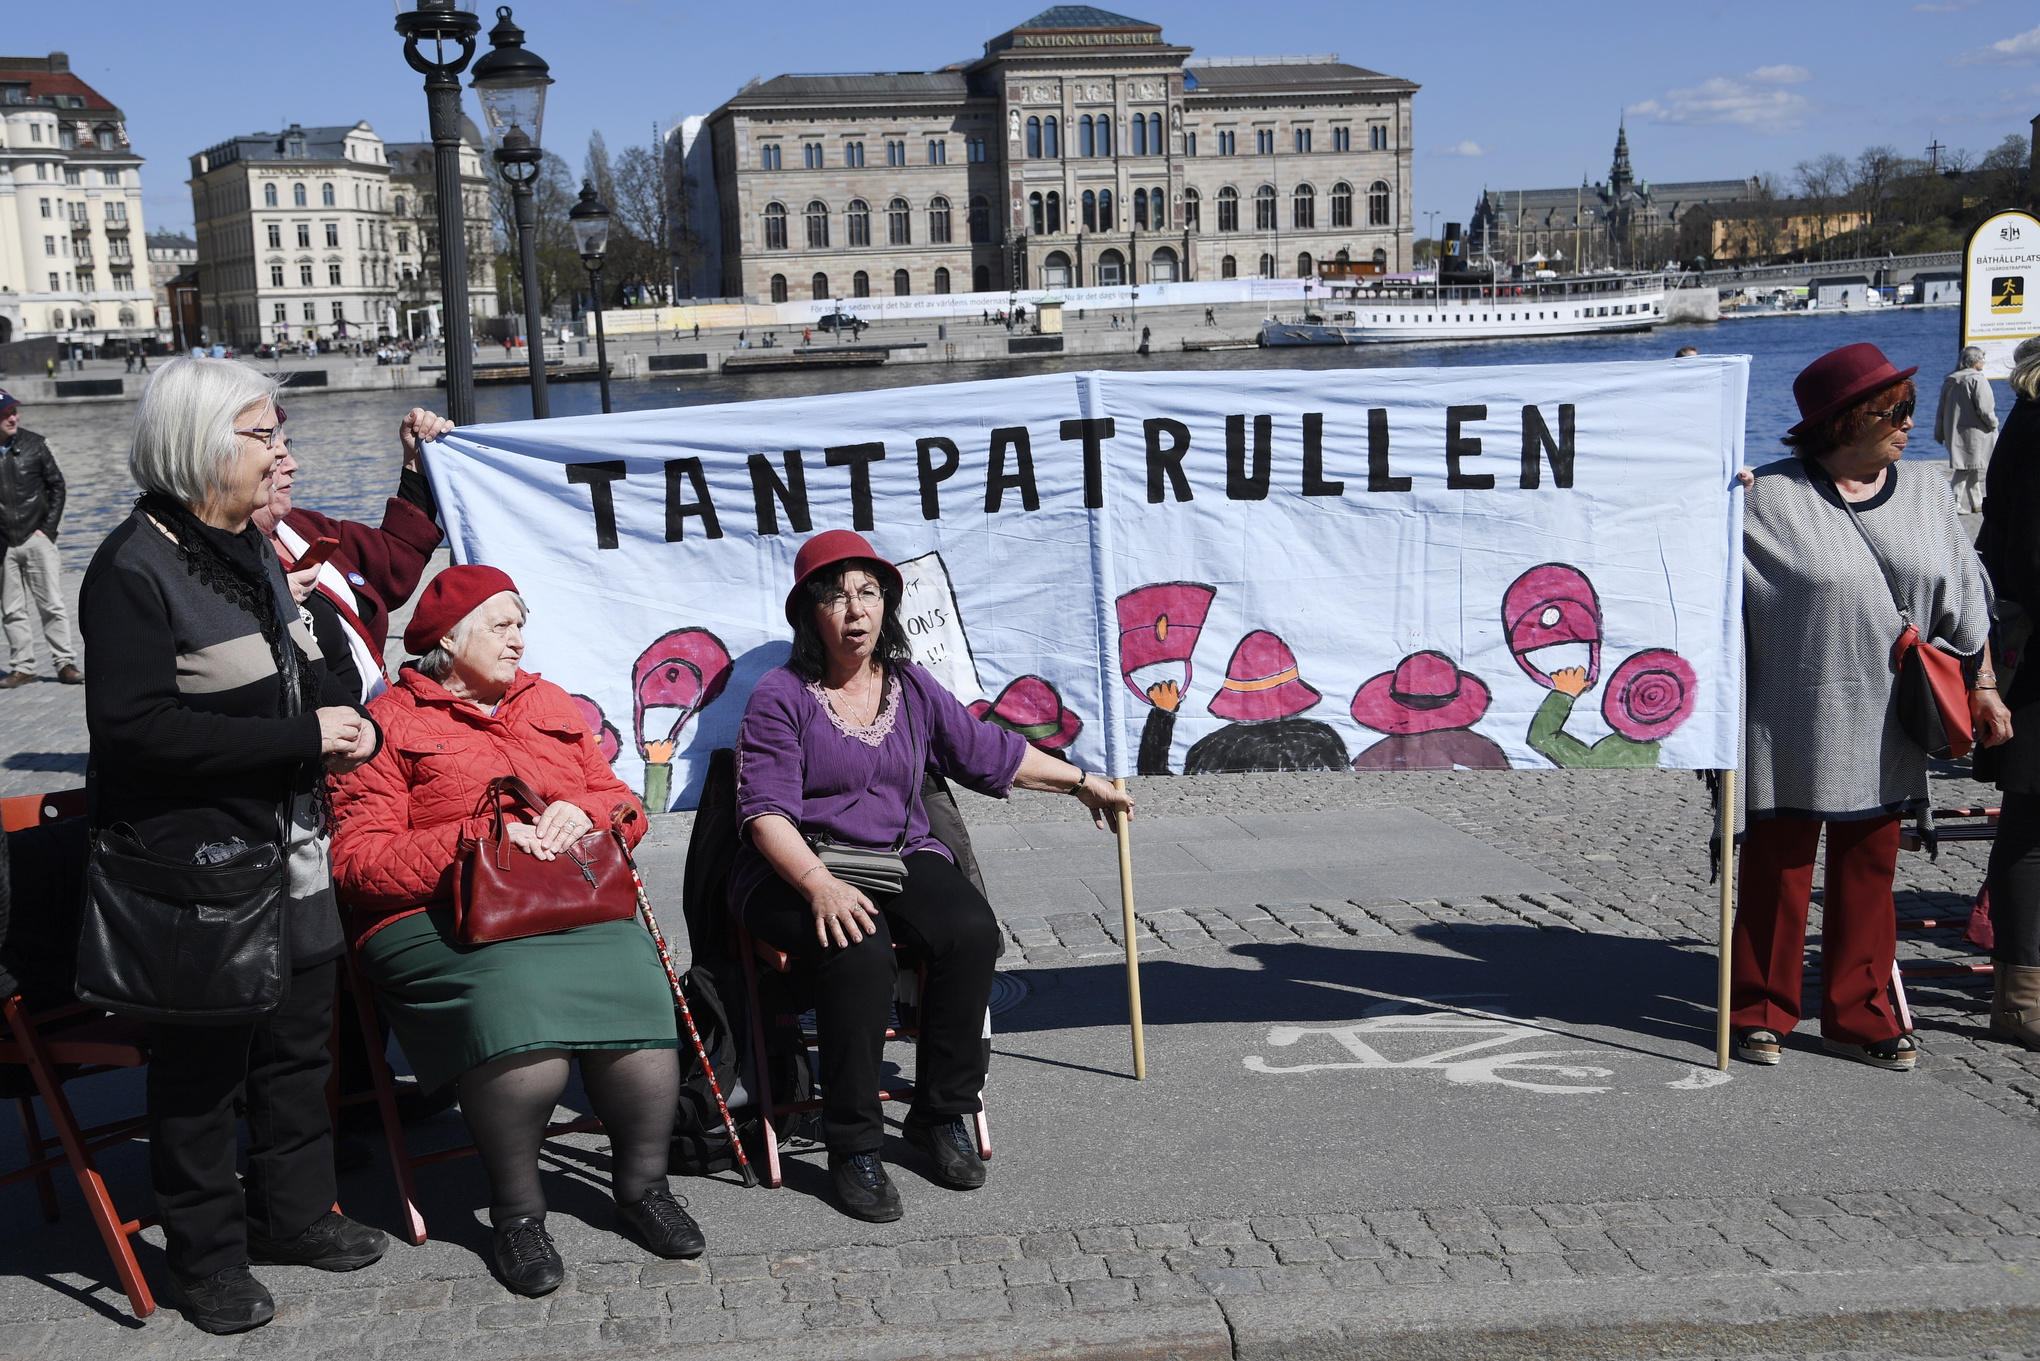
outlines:
{"label": "pale cloth banner reading TANTPATRULLEN with painted pink hats", "polygon": [[471,426],[455,561],[692,808],[800,543],[902,563],[918,657],[1114,775],[1728,767],[1748,361],[1061,373]]}

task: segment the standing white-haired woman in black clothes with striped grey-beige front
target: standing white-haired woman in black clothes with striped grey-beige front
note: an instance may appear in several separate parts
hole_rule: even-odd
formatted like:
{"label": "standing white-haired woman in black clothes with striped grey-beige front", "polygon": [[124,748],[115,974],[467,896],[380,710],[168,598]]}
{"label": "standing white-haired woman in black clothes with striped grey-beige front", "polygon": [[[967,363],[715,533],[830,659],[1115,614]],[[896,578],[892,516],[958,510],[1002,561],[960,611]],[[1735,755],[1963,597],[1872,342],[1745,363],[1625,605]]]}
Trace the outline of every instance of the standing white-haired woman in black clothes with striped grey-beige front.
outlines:
{"label": "standing white-haired woman in black clothes with striped grey-beige front", "polygon": [[[333,1210],[326,1035],[345,949],[318,786],[375,755],[251,518],[284,459],[275,382],[171,359],[135,410],[143,496],[80,592],[94,826],[173,865],[275,845],[288,863],[286,1000],[253,1022],[149,1032],[149,1169],[173,1300],[206,1332],[275,1314],[257,1265],[351,1271],[388,1239]],[[235,1175],[235,1106],[249,1124]]]}

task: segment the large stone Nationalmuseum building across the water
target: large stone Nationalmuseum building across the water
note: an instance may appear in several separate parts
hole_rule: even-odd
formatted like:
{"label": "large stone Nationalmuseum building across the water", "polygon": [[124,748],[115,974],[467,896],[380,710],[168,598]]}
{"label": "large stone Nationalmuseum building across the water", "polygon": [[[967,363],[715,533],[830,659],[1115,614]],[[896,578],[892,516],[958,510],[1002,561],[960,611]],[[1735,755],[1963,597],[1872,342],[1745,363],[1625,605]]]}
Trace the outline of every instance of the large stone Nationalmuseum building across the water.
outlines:
{"label": "large stone Nationalmuseum building across the water", "polygon": [[775,302],[1401,271],[1414,94],[1065,4],[940,71],[745,86],[687,202],[714,204],[720,294]]}

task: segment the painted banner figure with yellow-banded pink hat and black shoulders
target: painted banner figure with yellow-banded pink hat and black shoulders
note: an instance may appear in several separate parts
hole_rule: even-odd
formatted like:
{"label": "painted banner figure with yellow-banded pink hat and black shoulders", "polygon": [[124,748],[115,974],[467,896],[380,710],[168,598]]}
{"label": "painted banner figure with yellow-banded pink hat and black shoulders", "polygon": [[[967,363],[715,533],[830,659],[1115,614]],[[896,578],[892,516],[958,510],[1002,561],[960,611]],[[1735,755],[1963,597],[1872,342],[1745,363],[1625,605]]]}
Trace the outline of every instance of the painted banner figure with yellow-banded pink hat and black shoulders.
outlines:
{"label": "painted banner figure with yellow-banded pink hat and black shoulders", "polygon": [[1338,733],[1299,716],[1322,698],[1297,673],[1289,645],[1255,628],[1232,649],[1226,682],[1206,706],[1230,722],[1191,745],[1183,773],[1346,769],[1346,743]]}

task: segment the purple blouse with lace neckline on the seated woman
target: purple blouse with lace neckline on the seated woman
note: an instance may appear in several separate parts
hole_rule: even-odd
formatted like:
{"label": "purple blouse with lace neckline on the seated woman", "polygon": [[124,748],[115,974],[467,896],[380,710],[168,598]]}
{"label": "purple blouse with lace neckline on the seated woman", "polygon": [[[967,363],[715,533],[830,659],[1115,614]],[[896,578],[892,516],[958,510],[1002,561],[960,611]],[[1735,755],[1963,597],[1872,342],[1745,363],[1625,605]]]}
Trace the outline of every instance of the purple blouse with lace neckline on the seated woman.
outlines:
{"label": "purple blouse with lace neckline on the seated woman", "polygon": [[[869,728],[843,722],[820,682],[806,682],[789,667],[767,671],[751,692],[736,730],[743,847],[730,873],[732,908],[743,910],[753,890],[773,875],[751,845],[751,820],[767,812],[804,833],[824,833],[855,847],[891,849],[906,830],[906,855],[949,855],[928,835],[928,810],[912,800],[922,765],[967,790],[1006,798],[1026,755],[1026,739],[973,718],[957,696],[914,663],[887,671],[885,700]],[[926,759],[916,765],[920,753]]]}

